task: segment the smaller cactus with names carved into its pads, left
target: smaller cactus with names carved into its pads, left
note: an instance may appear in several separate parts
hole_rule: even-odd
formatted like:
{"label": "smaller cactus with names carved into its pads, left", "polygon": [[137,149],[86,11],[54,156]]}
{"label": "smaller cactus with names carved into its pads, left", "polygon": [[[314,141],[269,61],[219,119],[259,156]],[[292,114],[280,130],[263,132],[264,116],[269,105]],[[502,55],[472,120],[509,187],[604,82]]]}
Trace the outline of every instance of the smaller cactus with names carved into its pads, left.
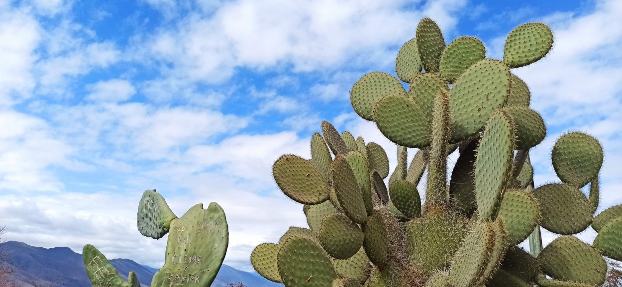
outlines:
{"label": "smaller cactus with names carved into its pads, left", "polygon": [[[160,239],[169,234],[164,266],[152,278],[152,287],[211,286],[229,244],[225,211],[217,203],[210,203],[207,209],[197,204],[178,218],[156,189],[147,190],[137,217],[142,235]],[[82,257],[93,287],[141,286],[133,271],[128,281],[124,280],[93,245],[85,245]]]}

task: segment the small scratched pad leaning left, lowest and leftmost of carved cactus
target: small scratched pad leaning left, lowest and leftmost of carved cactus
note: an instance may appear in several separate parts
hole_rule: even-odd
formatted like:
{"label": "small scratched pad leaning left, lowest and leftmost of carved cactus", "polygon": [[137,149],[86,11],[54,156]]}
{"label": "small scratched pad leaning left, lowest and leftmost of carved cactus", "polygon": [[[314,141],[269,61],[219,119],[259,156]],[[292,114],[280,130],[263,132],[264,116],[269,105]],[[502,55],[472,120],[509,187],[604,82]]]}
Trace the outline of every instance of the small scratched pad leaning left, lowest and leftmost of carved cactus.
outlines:
{"label": "small scratched pad leaning left, lowest and leftmost of carved cactus", "polygon": [[108,259],[93,245],[86,244],[82,248],[82,258],[86,268],[86,275],[93,286],[103,287],[133,287],[125,281]]}

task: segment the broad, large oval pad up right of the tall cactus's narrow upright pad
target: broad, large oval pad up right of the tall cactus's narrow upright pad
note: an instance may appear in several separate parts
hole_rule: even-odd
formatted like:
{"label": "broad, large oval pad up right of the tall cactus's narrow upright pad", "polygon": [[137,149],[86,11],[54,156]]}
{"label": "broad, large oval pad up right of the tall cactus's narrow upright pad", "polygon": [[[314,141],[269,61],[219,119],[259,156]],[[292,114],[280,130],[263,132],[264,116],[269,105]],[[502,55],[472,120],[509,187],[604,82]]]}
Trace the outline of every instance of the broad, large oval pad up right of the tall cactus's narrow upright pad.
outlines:
{"label": "broad, large oval pad up right of the tall cactus's narrow upright pad", "polygon": [[480,132],[491,113],[508,101],[509,83],[508,66],[491,59],[475,63],[458,78],[449,96],[453,142]]}

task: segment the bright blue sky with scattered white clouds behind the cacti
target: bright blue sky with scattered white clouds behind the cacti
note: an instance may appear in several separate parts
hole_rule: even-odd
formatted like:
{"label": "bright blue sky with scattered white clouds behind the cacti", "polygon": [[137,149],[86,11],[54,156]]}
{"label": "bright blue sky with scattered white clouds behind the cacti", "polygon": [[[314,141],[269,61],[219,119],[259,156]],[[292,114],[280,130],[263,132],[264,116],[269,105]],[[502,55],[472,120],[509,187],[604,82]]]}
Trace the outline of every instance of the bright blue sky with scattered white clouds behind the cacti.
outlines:
{"label": "bright blue sky with scattered white clouds behind the cacti", "polygon": [[380,143],[394,166],[396,148],[356,116],[349,91],[370,71],[394,74],[423,17],[447,43],[480,37],[489,58],[513,27],[550,25],[549,55],[513,70],[548,127],[531,152],[536,186],[558,181],[555,140],[582,130],[606,153],[599,211],[622,204],[621,14],[617,0],[0,0],[4,237],[78,252],[90,243],[159,267],[165,240],[136,230],[142,191],[157,188],[177,216],[220,203],[225,263],[252,269],[254,246],[305,226],[271,166],[309,157],[322,120]]}

